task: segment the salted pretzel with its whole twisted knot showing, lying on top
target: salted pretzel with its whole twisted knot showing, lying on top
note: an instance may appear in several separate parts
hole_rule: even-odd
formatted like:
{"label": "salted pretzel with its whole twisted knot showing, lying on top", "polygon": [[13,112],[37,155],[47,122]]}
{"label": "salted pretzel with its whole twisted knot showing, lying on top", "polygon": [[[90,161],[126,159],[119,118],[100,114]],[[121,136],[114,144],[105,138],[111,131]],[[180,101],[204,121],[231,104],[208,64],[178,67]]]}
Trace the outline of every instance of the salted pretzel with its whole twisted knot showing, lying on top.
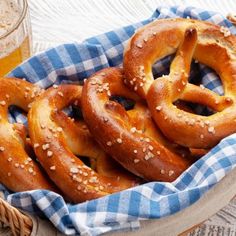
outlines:
{"label": "salted pretzel with its whole twisted knot showing, lying on top", "polygon": [[[167,76],[154,81],[155,61],[176,53]],[[188,83],[191,60],[213,68],[224,96]],[[229,30],[191,19],[157,20],[141,28],[124,53],[125,82],[147,100],[152,117],[170,140],[191,148],[210,148],[236,131],[236,37]],[[211,108],[201,116],[183,111],[183,100]]]}

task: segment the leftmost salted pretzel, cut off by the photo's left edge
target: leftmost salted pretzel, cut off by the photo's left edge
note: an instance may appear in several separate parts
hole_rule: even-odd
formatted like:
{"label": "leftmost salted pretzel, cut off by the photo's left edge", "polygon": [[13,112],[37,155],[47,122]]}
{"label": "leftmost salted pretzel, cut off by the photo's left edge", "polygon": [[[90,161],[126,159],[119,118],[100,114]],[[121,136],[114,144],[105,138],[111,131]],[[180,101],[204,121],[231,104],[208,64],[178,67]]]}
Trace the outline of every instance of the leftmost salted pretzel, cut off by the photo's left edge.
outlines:
{"label": "leftmost salted pretzel, cut off by the photo's left edge", "polygon": [[14,192],[48,189],[57,191],[48,177],[26,152],[26,129],[8,121],[8,108],[28,111],[41,89],[15,78],[0,79],[0,182]]}

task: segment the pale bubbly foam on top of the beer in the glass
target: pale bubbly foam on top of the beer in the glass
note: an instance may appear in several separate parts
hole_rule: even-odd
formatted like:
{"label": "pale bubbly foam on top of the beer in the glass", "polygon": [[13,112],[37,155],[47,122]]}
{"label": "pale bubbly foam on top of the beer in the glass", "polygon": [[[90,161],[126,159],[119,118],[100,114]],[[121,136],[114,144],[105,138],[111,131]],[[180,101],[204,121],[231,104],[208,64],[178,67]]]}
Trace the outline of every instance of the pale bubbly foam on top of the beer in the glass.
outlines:
{"label": "pale bubbly foam on top of the beer in the glass", "polygon": [[0,37],[14,27],[19,17],[19,7],[13,1],[0,1]]}

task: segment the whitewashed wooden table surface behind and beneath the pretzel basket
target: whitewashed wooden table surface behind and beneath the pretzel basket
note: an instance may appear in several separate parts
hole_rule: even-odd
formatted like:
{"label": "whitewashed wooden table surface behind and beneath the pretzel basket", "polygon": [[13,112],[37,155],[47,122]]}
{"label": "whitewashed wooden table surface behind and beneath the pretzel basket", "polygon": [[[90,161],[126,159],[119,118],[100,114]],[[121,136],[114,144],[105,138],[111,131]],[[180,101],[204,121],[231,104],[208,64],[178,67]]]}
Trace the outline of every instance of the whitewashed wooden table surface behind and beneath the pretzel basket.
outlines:
{"label": "whitewashed wooden table surface behind and beneath the pretzel basket", "polygon": [[[227,15],[236,0],[29,0],[34,53],[148,18],[160,5],[196,6]],[[236,199],[189,233],[236,235]]]}

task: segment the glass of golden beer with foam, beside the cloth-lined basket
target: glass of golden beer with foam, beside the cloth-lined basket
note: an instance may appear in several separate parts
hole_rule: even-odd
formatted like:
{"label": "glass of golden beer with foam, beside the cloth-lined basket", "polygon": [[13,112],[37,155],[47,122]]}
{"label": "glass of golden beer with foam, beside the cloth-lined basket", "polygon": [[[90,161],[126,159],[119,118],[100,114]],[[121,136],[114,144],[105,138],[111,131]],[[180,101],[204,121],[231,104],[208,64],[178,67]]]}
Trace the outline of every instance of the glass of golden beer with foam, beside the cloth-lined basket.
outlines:
{"label": "glass of golden beer with foam, beside the cloth-lined basket", "polygon": [[0,0],[0,77],[31,55],[27,0]]}

